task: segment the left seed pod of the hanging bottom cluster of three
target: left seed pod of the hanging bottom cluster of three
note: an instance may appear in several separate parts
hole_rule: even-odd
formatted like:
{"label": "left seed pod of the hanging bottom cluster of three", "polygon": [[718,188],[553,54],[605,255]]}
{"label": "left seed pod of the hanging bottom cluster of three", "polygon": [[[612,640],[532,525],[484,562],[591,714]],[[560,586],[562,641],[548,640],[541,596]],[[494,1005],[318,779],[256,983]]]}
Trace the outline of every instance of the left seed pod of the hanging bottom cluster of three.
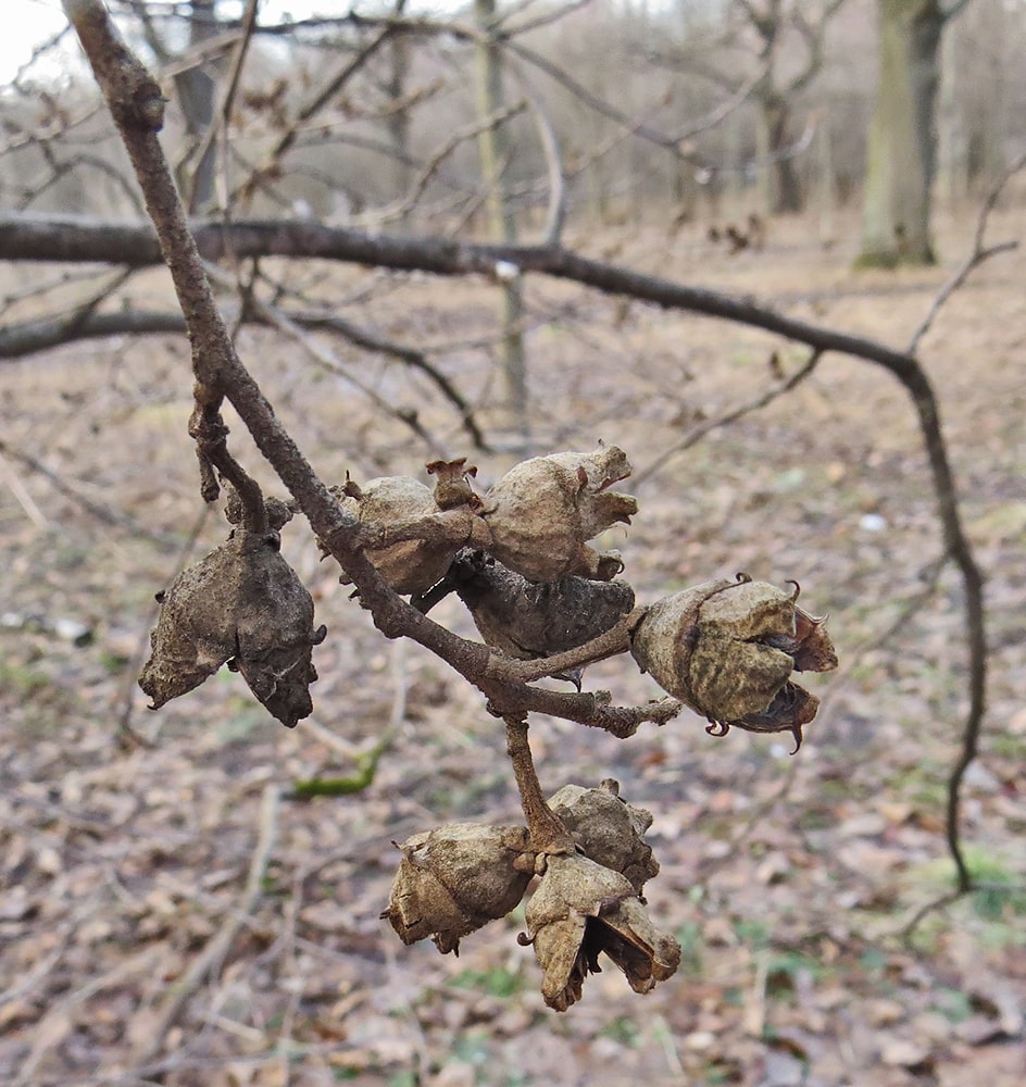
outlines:
{"label": "left seed pod of the hanging bottom cluster of three", "polygon": [[462,937],[515,909],[534,872],[520,826],[450,823],[398,848],[402,860],[381,917],[403,944],[429,936],[442,954],[459,953]]}

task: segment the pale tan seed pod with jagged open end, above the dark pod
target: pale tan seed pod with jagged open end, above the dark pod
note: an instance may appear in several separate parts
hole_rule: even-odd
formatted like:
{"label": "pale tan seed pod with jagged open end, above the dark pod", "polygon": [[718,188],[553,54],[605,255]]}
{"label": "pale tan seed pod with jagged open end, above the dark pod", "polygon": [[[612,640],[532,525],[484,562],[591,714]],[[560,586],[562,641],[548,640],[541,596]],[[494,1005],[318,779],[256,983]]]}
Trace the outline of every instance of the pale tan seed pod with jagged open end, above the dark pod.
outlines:
{"label": "pale tan seed pod with jagged open end, above the dark pod", "polygon": [[529,582],[568,574],[609,580],[623,570],[616,552],[587,546],[617,522],[630,523],[637,501],[609,488],[630,475],[626,453],[553,453],[514,465],[485,496],[488,550]]}

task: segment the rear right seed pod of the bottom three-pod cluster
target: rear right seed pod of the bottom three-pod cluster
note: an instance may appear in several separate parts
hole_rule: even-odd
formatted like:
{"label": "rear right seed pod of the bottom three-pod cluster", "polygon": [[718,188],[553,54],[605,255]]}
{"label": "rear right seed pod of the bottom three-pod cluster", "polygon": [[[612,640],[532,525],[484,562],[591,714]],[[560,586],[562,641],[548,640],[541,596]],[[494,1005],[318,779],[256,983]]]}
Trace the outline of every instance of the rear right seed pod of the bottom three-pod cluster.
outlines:
{"label": "rear right seed pod of the bottom three-pod cluster", "polygon": [[585,857],[626,876],[640,895],[659,874],[652,847],[645,841],[652,814],[622,800],[617,790],[615,782],[603,782],[598,789],[564,785],[549,798],[549,807]]}

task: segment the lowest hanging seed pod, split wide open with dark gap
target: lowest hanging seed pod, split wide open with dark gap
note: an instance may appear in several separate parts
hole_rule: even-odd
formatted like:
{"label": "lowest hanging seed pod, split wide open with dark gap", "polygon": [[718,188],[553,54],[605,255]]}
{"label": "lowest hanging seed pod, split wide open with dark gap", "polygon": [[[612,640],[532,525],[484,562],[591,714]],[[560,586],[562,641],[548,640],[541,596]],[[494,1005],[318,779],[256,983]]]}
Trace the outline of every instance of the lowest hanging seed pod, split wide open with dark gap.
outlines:
{"label": "lowest hanging seed pod, split wide open with dark gap", "polygon": [[579,853],[550,855],[546,863],[520,941],[534,945],[550,1008],[564,1012],[580,999],[585,978],[601,971],[601,952],[635,992],[674,975],[680,945],[652,924],[626,876]]}

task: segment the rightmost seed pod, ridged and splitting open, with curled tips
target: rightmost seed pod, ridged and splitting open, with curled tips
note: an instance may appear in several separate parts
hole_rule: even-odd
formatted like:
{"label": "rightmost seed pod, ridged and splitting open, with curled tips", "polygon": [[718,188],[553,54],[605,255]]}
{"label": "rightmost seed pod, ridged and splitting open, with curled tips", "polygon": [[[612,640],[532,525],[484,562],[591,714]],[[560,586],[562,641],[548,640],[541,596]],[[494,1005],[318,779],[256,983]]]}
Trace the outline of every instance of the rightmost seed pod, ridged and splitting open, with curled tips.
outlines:
{"label": "rightmost seed pod, ridged and splitting open, with curled tips", "polygon": [[797,598],[797,584],[786,592],[743,575],[705,582],[653,604],[634,630],[631,653],[703,714],[710,732],[790,732],[800,747],[819,702],[791,673],[828,672],[837,657],[825,620],[803,612]]}

